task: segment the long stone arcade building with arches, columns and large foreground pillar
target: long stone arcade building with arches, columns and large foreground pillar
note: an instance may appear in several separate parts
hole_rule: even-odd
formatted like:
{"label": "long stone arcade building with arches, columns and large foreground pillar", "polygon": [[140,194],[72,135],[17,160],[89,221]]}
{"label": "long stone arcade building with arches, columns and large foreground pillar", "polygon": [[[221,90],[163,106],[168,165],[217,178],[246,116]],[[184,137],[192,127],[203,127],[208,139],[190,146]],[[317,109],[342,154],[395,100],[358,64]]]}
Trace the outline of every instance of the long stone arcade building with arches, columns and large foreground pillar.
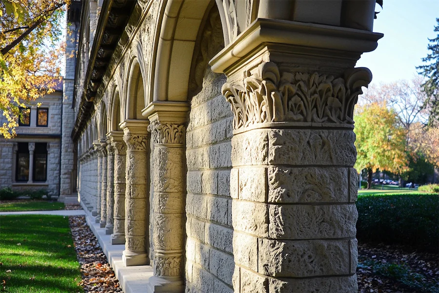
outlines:
{"label": "long stone arcade building with arches, columns and large foreground pillar", "polygon": [[78,191],[125,292],[357,292],[353,109],[372,75],[355,64],[382,37],[374,9],[82,1]]}

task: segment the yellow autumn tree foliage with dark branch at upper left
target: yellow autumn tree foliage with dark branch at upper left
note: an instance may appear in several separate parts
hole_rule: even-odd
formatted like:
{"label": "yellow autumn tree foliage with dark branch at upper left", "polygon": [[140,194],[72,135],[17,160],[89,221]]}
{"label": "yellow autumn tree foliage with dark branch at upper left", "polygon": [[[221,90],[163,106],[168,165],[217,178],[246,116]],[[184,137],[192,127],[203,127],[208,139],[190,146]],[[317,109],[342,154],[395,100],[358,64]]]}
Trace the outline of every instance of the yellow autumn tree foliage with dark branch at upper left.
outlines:
{"label": "yellow autumn tree foliage with dark branch at upper left", "polygon": [[62,6],[66,0],[0,0],[0,125],[15,135],[19,107],[54,91],[60,81]]}

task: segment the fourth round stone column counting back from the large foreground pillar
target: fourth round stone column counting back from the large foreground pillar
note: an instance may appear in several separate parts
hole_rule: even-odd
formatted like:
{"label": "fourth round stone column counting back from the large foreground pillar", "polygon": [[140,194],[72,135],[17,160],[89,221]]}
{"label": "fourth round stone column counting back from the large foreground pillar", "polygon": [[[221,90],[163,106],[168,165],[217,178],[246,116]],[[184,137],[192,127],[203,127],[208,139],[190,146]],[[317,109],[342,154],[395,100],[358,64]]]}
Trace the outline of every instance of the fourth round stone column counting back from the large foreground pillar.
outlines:
{"label": "fourth round stone column counting back from the large foreground pillar", "polygon": [[107,138],[107,219],[105,234],[113,233],[113,210],[114,210],[114,148],[110,138]]}

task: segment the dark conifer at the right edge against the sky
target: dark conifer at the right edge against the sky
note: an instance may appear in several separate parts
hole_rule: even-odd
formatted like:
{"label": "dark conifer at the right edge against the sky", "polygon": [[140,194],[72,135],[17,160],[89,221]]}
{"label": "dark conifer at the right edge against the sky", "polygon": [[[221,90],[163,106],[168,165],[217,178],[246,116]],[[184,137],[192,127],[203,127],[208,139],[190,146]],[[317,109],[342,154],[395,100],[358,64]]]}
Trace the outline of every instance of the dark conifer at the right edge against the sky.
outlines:
{"label": "dark conifer at the right edge against the sky", "polygon": [[436,38],[428,39],[427,45],[430,51],[427,57],[422,58],[423,65],[416,67],[426,80],[422,84],[422,89],[427,95],[424,107],[430,111],[428,123],[430,126],[439,124],[439,18],[434,31],[438,33]]}

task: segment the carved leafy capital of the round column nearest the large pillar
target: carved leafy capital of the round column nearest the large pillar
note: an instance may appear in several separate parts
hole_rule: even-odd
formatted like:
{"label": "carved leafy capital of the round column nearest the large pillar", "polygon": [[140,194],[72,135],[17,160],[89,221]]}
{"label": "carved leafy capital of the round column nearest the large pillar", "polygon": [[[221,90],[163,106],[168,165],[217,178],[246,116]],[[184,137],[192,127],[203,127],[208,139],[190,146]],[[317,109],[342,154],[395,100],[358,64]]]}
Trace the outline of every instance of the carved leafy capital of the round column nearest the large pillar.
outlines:
{"label": "carved leafy capital of the round column nearest the large pillar", "polygon": [[185,127],[183,125],[168,123],[161,124],[158,121],[153,121],[148,126],[148,131],[151,132],[152,139],[155,145],[182,145],[184,143]]}

